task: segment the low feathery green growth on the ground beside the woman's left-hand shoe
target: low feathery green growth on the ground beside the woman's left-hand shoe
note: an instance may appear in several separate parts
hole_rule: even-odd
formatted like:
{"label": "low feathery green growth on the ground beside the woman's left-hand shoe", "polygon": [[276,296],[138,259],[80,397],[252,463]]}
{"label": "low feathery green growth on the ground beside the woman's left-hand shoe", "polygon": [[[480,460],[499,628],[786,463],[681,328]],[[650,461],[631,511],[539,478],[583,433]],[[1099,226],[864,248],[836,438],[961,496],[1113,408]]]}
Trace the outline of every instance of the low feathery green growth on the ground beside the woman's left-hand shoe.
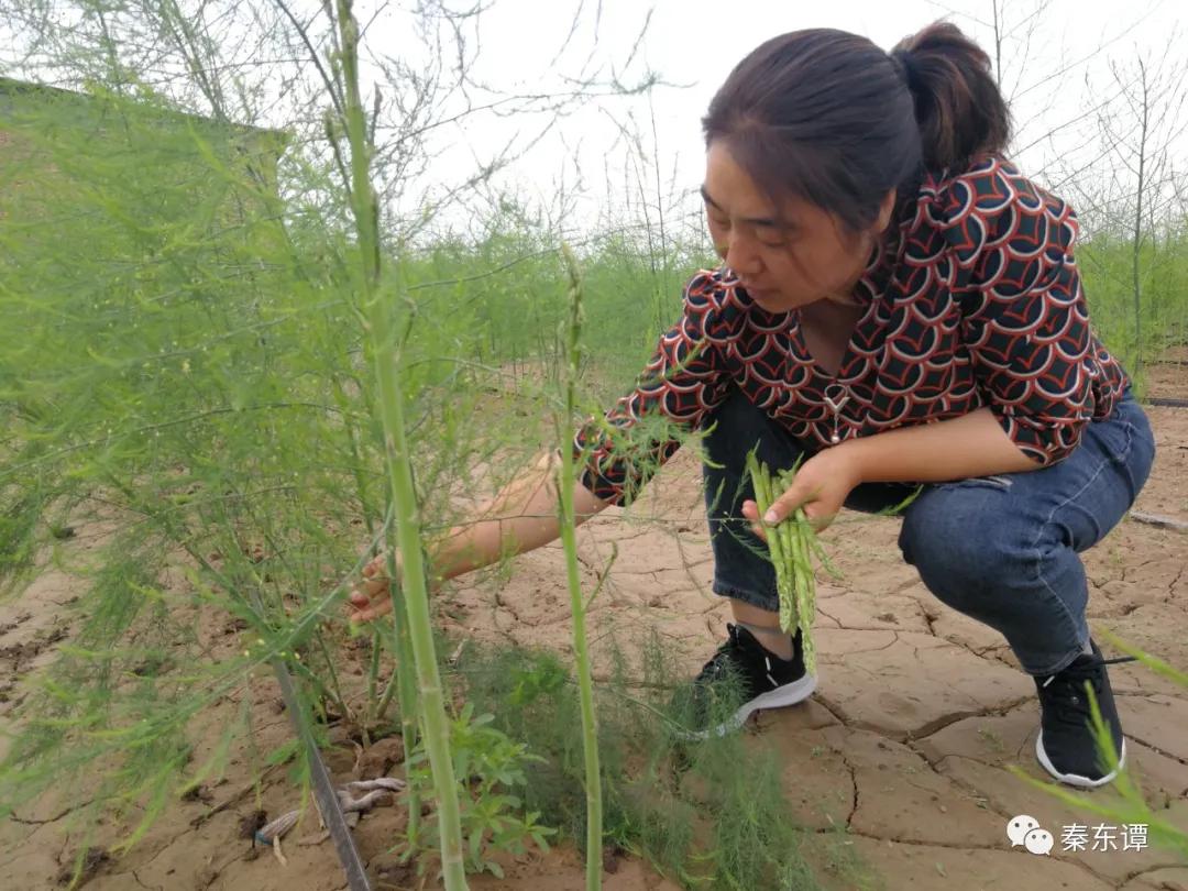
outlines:
{"label": "low feathery green growth on the ground beside the woman's left-hand shoe", "polygon": [[[745,734],[678,739],[671,658],[655,633],[636,644],[642,674],[619,657],[596,688],[606,843],[690,889],[817,887],[800,851],[820,839],[797,828],[776,753]],[[493,726],[544,758],[532,769],[524,805],[581,840],[581,721],[568,669],[549,652],[468,646],[457,672],[468,703],[489,710]],[[725,714],[737,703],[727,695],[720,704]],[[860,876],[857,858],[842,866],[841,853],[835,868]]]}

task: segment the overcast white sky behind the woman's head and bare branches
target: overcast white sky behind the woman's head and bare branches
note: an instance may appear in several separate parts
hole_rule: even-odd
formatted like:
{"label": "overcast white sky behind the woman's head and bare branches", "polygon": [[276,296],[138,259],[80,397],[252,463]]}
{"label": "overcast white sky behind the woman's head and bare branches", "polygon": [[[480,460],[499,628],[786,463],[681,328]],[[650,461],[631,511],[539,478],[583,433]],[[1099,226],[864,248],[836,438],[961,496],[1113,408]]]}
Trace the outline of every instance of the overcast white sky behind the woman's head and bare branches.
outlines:
{"label": "overcast white sky behind the woman's head and bare branches", "polygon": [[[1098,201],[1093,192],[1100,192],[1100,183],[1126,176],[1125,158],[1102,150],[1101,109],[1114,116],[1116,129],[1124,139],[1135,132],[1135,112],[1120,95],[1111,65],[1120,67],[1124,82],[1132,77],[1138,57],[1146,59],[1152,76],[1162,76],[1165,81],[1174,76],[1178,65],[1180,83],[1175,88],[1167,82],[1158,87],[1161,96],[1178,90],[1183,97],[1182,81],[1188,76],[1184,71],[1188,44],[1182,21],[1188,17],[1186,0],[1111,0],[1108,4],[1101,0],[997,0],[997,5],[994,0],[820,0],[811,4],[655,0],[651,5],[640,0],[481,1],[487,7],[463,26],[473,53],[470,76],[491,87],[486,93],[470,91],[479,105],[507,93],[571,89],[574,80],[589,77],[605,82],[617,75],[624,84],[632,86],[639,83],[646,71],[652,71],[670,84],[657,86],[646,96],[581,102],[493,181],[494,188],[554,211],[560,194],[570,196],[565,220],[583,229],[639,222],[645,210],[655,221],[659,192],[662,202],[669,204],[670,227],[685,220],[691,230],[699,230],[699,202],[694,196],[703,172],[701,115],[739,59],[763,40],[786,31],[838,27],[865,34],[877,45],[890,49],[930,21],[948,18],[992,52],[997,8],[1004,34],[1001,86],[1016,120],[1011,153],[1025,172],[1070,198],[1082,219],[1086,204],[1092,209]],[[311,23],[310,33],[324,50],[328,23],[321,12],[321,0],[286,2],[298,18]],[[418,6],[432,10],[441,5],[461,11],[476,2],[480,0],[358,0],[355,14],[367,23],[365,61],[368,53],[372,63],[384,57],[399,58],[419,76],[431,68],[429,63],[434,56],[449,58],[451,55],[448,45],[446,53],[438,53],[434,46],[418,42],[412,11]],[[0,11],[11,4],[12,0],[0,0]],[[46,8],[53,11],[55,29],[63,34],[74,33],[65,23],[77,21],[76,7],[65,2],[50,4]],[[312,120],[318,121],[316,132],[321,133],[320,112],[328,100],[304,48],[295,40],[289,52],[279,55],[296,53],[299,58],[280,62],[261,58],[255,50],[268,45],[268,37],[283,36],[289,29],[286,21],[277,24],[268,18],[277,14],[272,0],[253,4],[183,0],[182,8],[187,15],[204,17],[200,30],[204,27],[204,33],[225,45],[225,52],[220,53],[223,56],[221,63],[226,63],[225,74],[241,75],[259,88],[259,93],[252,95],[259,96],[257,105],[260,108],[246,112],[246,119],[267,126],[293,127],[296,116],[309,119],[312,115]],[[152,27],[139,32],[141,44],[159,43],[151,33]],[[245,37],[253,30],[255,37]],[[644,37],[637,45],[636,38],[642,30]],[[10,45],[6,17],[0,15],[0,67],[20,57],[15,49],[20,42]],[[270,49],[277,55],[276,46]],[[170,78],[192,81],[178,58],[145,64],[160,69],[144,74],[154,76],[162,84],[170,83]],[[15,70],[18,76],[49,77],[55,82],[52,71],[20,67]],[[377,72],[374,64],[365,62],[365,74],[374,76]],[[407,90],[410,81],[410,76],[403,74],[385,86],[387,115],[397,113],[396,100],[402,90]],[[316,107],[303,105],[305,91],[293,89],[293,84],[301,82],[322,93]],[[367,83],[364,87],[369,107],[372,89]],[[181,95],[177,90],[170,91]],[[195,109],[201,110],[202,99],[195,90],[189,90],[182,101],[196,102]],[[463,97],[456,94],[446,100],[440,116],[450,118],[461,110],[462,101]],[[1177,116],[1157,108],[1154,135],[1164,138],[1188,125],[1188,106],[1181,110]],[[455,124],[432,128],[426,145],[431,164],[425,175],[399,198],[394,192],[387,194],[393,204],[400,204],[397,209],[403,214],[416,214],[424,190],[440,195],[488,163],[498,147],[514,134],[526,140],[549,120],[549,115],[497,116],[488,113],[466,115]],[[624,128],[640,140],[633,150],[624,137]],[[392,131],[381,125],[378,133],[381,146],[391,137]],[[1188,170],[1186,133],[1181,132],[1174,141],[1171,156],[1177,170]],[[407,179],[407,171],[402,170],[398,182]],[[1114,189],[1119,191],[1125,189]],[[640,204],[642,192],[647,208]],[[674,207],[678,207],[680,213]],[[455,209],[448,219],[451,225],[465,228],[468,219],[476,217],[463,208],[461,211]]]}

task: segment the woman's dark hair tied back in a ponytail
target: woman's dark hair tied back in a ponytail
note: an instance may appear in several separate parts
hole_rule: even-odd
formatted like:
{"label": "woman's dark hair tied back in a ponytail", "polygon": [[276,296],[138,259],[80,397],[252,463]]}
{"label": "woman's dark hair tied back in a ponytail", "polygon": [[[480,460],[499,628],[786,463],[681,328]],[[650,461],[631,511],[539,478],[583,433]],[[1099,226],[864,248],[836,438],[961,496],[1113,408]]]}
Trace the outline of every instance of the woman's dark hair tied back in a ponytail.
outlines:
{"label": "woman's dark hair tied back in a ponytail", "polygon": [[851,229],[923,170],[1001,153],[1010,138],[990,57],[947,21],[890,55],[832,29],[776,37],[734,68],[701,125],[777,203],[803,198]]}

